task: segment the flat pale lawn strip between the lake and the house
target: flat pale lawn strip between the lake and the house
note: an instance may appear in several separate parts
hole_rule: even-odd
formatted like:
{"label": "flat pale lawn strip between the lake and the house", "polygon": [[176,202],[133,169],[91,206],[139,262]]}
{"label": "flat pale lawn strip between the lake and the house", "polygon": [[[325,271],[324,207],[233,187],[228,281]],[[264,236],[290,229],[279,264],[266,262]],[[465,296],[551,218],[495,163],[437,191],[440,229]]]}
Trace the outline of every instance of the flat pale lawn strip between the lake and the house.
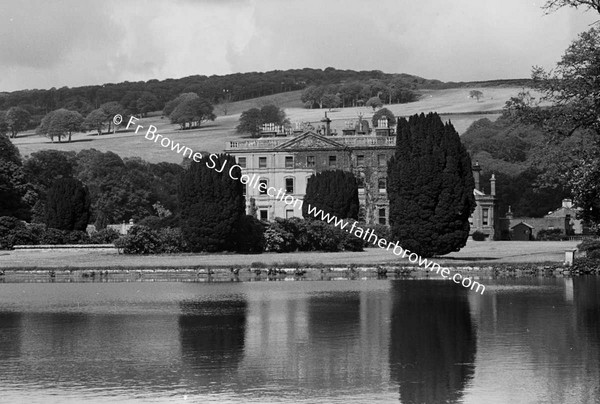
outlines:
{"label": "flat pale lawn strip between the lake and the house", "polygon": [[[563,262],[565,250],[575,248],[576,241],[469,241],[459,252],[434,259],[440,265],[487,265],[497,263]],[[369,248],[364,252],[297,252],[243,254],[177,254],[177,255],[117,255],[98,251],[3,251],[0,268],[32,267],[196,267],[196,266],[250,266],[265,265],[376,265],[402,262],[391,251]]]}

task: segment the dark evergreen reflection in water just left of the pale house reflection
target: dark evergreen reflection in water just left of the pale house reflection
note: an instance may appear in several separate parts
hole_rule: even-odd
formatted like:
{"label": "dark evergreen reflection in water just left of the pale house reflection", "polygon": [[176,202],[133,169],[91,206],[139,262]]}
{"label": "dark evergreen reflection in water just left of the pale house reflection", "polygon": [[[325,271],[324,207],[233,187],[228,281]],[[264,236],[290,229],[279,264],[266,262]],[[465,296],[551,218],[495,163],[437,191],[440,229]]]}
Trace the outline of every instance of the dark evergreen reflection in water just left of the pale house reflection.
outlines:
{"label": "dark evergreen reflection in water just left of the pale house reflection", "polygon": [[[211,369],[219,378],[237,368],[244,354],[244,300],[183,301],[179,338],[183,361],[194,369]],[[227,383],[231,380],[222,380]]]}

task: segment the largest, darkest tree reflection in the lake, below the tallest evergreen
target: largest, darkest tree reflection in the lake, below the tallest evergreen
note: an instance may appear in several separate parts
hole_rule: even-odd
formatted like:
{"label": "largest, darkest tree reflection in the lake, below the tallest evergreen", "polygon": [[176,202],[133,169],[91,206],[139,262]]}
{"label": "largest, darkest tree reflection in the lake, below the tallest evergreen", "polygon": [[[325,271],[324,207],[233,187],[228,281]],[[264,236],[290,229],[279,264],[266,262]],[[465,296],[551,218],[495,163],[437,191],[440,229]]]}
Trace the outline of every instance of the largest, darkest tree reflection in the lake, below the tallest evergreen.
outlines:
{"label": "largest, darkest tree reflection in the lake, below the tallest evergreen", "polygon": [[394,281],[392,293],[390,364],[400,400],[458,401],[476,353],[469,291],[447,282]]}

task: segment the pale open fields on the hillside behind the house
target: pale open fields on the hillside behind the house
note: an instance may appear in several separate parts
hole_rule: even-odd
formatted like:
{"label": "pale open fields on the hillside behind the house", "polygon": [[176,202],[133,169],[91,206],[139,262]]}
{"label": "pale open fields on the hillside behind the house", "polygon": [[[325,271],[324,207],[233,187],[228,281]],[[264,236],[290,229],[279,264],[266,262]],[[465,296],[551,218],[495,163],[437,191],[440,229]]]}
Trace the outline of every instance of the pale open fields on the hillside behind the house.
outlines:
{"label": "pale open fields on the hillside behind the house", "polygon": [[[423,90],[423,96],[416,102],[409,104],[386,105],[397,116],[409,116],[421,112],[438,112],[443,114],[444,120],[451,120],[458,133],[462,134],[469,125],[477,119],[487,117],[496,119],[504,103],[512,96],[516,96],[520,87],[482,87],[483,98],[477,102],[469,98],[469,91],[473,88],[459,88],[447,90]],[[252,107],[260,107],[269,102],[277,102],[285,108],[292,122],[310,122],[314,126],[320,125],[326,109],[305,109],[301,107],[301,91],[293,91],[283,94],[275,94],[267,97],[232,102],[228,105],[228,115],[222,115],[222,106],[215,106],[215,112],[221,114],[214,122],[209,122],[199,129],[179,130],[178,125],[173,125],[167,118],[161,118],[160,114],[140,119],[138,124],[148,128],[154,125],[158,133],[179,142],[195,151],[221,152],[226,141],[240,140],[244,137],[235,133],[240,113]],[[356,120],[359,114],[364,118],[371,119],[372,108],[352,107],[337,108],[328,111],[328,116],[333,120],[332,129],[341,133],[347,121]],[[145,133],[145,132],[144,132]],[[73,135],[71,143],[52,143],[45,137],[36,135],[29,131],[14,139],[15,145],[19,147],[21,155],[27,156],[33,152],[44,149],[72,150],[97,149],[100,151],[112,151],[122,157],[141,157],[144,160],[157,163],[161,161],[179,163],[181,155],[144,139],[142,130],[138,134],[132,131],[120,131],[115,134],[97,136],[94,133],[78,133]]]}

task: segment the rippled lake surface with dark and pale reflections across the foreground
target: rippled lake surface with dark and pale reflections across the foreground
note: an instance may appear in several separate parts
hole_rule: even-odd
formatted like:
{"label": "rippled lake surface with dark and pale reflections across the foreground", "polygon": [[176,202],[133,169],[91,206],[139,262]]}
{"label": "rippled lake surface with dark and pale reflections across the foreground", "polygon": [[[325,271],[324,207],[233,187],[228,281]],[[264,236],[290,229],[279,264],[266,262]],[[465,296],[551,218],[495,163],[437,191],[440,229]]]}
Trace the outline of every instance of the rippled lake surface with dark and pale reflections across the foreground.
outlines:
{"label": "rippled lake surface with dark and pale reflections across the foreground", "polygon": [[0,402],[600,402],[600,281],[0,284]]}

